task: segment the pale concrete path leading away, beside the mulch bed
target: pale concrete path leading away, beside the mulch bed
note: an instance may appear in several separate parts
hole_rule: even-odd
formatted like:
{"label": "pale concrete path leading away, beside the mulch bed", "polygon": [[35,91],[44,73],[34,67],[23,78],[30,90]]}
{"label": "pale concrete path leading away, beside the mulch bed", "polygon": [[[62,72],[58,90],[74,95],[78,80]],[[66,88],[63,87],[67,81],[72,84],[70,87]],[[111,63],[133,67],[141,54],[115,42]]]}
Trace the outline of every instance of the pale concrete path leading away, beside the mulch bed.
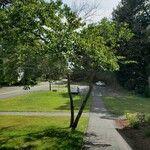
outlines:
{"label": "pale concrete path leading away, beside the mulch bed", "polygon": [[94,87],[92,97],[92,109],[83,149],[131,150],[131,147],[115,129],[113,117],[108,114],[101,100],[99,87]]}

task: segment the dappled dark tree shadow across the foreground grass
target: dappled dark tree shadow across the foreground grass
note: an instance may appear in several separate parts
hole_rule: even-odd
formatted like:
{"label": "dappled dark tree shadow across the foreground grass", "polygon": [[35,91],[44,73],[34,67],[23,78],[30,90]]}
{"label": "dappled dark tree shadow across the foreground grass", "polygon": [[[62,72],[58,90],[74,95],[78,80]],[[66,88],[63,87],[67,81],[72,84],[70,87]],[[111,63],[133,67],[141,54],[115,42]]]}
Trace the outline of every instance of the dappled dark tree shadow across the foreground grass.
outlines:
{"label": "dappled dark tree shadow across the foreground grass", "polygon": [[[0,139],[1,150],[31,150],[31,149],[57,149],[79,150],[83,142],[83,132],[71,131],[69,128],[49,128],[46,130],[14,135]],[[11,145],[12,141],[22,141],[21,144]]]}

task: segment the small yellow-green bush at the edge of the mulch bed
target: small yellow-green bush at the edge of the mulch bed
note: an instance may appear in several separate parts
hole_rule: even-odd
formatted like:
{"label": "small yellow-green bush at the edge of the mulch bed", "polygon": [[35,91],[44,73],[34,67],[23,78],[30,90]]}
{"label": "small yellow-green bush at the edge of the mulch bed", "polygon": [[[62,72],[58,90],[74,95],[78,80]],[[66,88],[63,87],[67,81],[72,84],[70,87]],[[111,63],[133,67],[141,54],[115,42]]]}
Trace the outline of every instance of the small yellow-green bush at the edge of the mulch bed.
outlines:
{"label": "small yellow-green bush at the edge of the mulch bed", "polygon": [[143,113],[126,113],[126,118],[130,127],[138,129],[145,122],[145,114]]}

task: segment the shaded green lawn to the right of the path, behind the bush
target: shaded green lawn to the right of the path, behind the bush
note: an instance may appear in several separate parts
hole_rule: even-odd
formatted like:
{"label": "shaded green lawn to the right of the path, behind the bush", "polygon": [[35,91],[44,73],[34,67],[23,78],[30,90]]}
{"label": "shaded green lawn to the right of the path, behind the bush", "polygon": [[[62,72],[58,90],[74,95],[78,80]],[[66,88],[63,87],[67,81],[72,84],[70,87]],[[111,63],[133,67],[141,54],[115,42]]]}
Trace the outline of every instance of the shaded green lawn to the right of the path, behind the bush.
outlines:
{"label": "shaded green lawn to the right of the path, behind the bush", "polygon": [[116,115],[123,115],[126,112],[143,112],[150,114],[150,99],[135,95],[103,97],[104,104],[108,111]]}

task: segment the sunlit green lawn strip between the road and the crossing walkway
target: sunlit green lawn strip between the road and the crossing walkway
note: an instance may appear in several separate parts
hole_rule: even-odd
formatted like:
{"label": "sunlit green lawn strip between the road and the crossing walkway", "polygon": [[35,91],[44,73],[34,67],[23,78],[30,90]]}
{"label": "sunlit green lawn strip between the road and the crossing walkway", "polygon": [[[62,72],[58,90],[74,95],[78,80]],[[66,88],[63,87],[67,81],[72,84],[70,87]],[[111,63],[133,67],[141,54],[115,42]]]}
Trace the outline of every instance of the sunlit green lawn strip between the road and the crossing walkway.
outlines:
{"label": "sunlit green lawn strip between the road and the crossing walkway", "polygon": [[[81,96],[75,96],[74,103],[75,110],[78,110],[81,105]],[[85,111],[89,110],[89,103]],[[0,101],[0,111],[60,112],[69,110],[70,103],[66,92],[32,92]]]}

